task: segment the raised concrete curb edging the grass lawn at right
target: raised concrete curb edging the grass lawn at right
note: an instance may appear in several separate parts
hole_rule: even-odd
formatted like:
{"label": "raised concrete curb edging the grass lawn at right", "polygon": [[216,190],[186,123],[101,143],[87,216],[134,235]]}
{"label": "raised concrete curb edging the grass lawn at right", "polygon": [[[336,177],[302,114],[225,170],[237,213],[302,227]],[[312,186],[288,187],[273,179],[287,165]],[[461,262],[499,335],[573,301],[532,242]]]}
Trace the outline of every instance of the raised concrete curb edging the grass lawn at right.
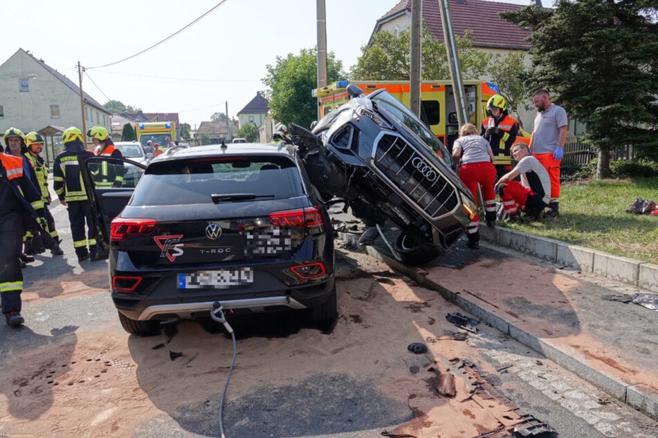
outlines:
{"label": "raised concrete curb edging the grass lawn at right", "polygon": [[479,233],[484,240],[495,245],[550,260],[568,269],[604,276],[658,294],[658,265],[613,256],[578,245],[569,245],[559,240],[531,236],[509,228],[479,227]]}

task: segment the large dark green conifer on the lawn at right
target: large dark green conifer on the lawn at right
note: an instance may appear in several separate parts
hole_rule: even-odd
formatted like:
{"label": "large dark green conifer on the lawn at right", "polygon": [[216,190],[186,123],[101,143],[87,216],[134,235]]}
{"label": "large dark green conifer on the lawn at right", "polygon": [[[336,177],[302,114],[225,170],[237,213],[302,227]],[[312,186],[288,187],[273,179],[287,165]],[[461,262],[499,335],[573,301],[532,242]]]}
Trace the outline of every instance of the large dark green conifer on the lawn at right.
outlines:
{"label": "large dark green conifer on the lawn at right", "polygon": [[501,17],[532,30],[529,88],[549,88],[583,140],[599,151],[597,178],[610,178],[610,152],[632,144],[658,158],[658,10],[648,0],[558,0]]}

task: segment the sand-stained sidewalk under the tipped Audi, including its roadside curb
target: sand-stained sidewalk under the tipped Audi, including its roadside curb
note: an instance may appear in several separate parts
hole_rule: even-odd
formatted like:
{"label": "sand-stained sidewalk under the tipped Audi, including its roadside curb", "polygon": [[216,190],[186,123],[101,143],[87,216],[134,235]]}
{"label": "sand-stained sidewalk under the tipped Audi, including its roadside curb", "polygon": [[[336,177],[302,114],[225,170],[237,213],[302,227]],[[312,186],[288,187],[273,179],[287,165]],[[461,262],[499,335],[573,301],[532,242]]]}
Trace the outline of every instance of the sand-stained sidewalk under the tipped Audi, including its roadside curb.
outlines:
{"label": "sand-stained sidewalk under the tipped Audi, including its roadside curb", "polygon": [[[522,241],[524,248],[563,245],[563,254],[572,254],[569,245],[510,229],[484,233],[497,239],[508,231],[513,232],[508,241]],[[358,234],[342,237],[356,244]],[[569,266],[565,260],[540,260],[509,246],[514,250],[484,240],[473,251],[458,242],[422,268],[394,260],[381,238],[366,249],[447,301],[658,419],[658,311],[628,302],[635,293],[654,291]],[[612,257],[582,250],[591,254],[587,260]],[[623,263],[642,265],[637,260]],[[614,270],[614,263],[608,269]]]}

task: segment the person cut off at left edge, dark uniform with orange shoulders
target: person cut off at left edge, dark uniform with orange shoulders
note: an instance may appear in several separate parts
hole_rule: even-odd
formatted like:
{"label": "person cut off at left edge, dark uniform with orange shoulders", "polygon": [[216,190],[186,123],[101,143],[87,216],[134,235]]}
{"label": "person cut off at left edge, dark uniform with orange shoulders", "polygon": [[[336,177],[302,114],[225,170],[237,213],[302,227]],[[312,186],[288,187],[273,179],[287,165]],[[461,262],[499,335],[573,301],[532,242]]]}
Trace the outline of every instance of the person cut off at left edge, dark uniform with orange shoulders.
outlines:
{"label": "person cut off at left edge, dark uniform with orange shoulders", "polygon": [[[9,149],[9,148],[7,148]],[[22,325],[21,240],[25,229],[35,232],[33,248],[45,250],[38,230],[45,227],[46,218],[41,194],[23,171],[21,158],[0,152],[0,298],[2,313],[12,327]]]}

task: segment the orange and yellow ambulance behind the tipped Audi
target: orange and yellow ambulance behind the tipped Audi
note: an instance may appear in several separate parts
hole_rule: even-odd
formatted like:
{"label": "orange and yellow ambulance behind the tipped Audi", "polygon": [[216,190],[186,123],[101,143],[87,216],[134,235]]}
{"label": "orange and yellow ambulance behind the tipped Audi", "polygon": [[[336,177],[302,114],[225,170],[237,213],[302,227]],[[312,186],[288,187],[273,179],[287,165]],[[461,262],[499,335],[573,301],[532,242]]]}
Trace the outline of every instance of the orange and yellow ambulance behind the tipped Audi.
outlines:
{"label": "orange and yellow ambulance behind the tipped Audi", "polygon": [[[334,82],[323,88],[312,91],[318,99],[320,115],[324,117],[336,106],[344,104],[349,99],[347,85],[354,84],[368,95],[380,88],[385,88],[396,99],[408,108],[410,107],[410,84],[408,81],[352,81]],[[465,81],[464,99],[466,100],[467,122],[475,124],[479,129],[482,120],[486,119],[486,102],[498,94],[498,86],[491,82]],[[459,137],[459,122],[453,84],[450,81],[421,82],[421,120],[430,126],[432,132],[452,151],[453,142]],[[518,140],[528,143],[529,133],[519,130]]]}

